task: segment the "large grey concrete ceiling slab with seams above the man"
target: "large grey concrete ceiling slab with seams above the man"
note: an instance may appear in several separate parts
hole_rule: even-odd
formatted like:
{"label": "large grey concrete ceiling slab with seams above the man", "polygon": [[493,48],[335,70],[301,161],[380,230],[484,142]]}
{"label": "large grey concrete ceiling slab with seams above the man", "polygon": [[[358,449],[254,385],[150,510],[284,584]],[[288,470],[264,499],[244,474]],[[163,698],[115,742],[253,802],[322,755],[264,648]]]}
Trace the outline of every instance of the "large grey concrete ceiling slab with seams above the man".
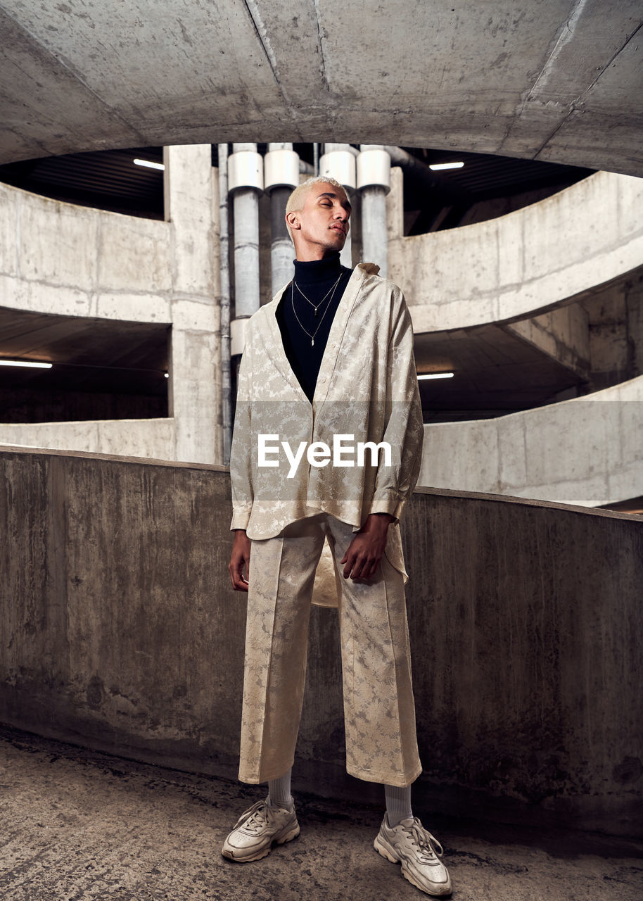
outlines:
{"label": "large grey concrete ceiling slab with seams above the man", "polygon": [[362,141],[643,175],[639,0],[451,3],[1,0],[0,163]]}

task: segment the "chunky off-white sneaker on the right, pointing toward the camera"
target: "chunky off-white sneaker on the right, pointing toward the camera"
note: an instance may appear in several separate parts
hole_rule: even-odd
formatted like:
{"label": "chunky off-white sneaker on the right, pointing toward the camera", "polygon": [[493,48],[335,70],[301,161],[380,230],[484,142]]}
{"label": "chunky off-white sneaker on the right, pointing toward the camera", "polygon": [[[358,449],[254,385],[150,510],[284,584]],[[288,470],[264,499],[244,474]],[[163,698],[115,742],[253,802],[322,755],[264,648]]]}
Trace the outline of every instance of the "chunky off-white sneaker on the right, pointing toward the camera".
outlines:
{"label": "chunky off-white sneaker on the right, pointing toward the camera", "polygon": [[389,826],[388,816],[374,842],[376,851],[392,863],[402,864],[402,875],[427,895],[450,895],[451,879],[439,858],[444,851],[417,816]]}

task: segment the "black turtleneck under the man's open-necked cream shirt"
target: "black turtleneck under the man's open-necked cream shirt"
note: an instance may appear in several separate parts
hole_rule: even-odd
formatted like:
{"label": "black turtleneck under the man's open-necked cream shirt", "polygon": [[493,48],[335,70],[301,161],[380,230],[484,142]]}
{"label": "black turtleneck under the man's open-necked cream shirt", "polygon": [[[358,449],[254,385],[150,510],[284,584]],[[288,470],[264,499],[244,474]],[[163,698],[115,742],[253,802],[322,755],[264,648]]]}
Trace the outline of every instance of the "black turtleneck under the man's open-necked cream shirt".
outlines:
{"label": "black turtleneck under the man's open-necked cream shirt", "polygon": [[[303,393],[311,403],[331,324],[352,273],[352,269],[341,265],[339,250],[324,259],[306,262],[295,259],[294,282],[297,287],[291,282],[276,307],[276,321],[284,342],[285,355]],[[338,278],[340,280],[333,292]],[[308,300],[300,294],[298,288],[302,289]],[[314,306],[317,306],[317,316]]]}

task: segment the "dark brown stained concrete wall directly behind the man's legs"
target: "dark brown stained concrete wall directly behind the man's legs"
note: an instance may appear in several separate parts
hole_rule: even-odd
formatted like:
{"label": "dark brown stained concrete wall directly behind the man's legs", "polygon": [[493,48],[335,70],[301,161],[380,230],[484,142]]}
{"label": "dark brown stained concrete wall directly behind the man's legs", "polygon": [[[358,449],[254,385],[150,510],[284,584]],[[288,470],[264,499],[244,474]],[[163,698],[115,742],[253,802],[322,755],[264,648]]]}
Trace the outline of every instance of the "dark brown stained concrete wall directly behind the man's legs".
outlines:
{"label": "dark brown stained concrete wall directly behind the man's legs", "polygon": [[[245,597],[215,466],[0,451],[0,719],[234,778]],[[421,491],[403,520],[417,804],[643,829],[643,524]],[[345,774],[336,612],[312,616],[296,787]]]}

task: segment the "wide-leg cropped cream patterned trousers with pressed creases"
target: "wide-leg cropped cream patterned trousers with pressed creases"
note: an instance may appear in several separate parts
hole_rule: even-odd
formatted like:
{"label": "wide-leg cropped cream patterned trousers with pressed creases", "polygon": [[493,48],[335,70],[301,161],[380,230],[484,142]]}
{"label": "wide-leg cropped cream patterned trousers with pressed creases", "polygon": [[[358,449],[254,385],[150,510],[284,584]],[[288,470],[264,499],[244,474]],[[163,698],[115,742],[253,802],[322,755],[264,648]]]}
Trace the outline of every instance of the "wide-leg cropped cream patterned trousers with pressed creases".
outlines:
{"label": "wide-leg cropped cream patterned trousers with pressed creases", "polygon": [[331,514],[286,526],[250,548],[239,778],[266,782],[294,762],[315,568],[326,535],[339,570],[346,769],[385,785],[421,773],[403,577],[382,557],[373,578],[341,575],[355,532]]}

